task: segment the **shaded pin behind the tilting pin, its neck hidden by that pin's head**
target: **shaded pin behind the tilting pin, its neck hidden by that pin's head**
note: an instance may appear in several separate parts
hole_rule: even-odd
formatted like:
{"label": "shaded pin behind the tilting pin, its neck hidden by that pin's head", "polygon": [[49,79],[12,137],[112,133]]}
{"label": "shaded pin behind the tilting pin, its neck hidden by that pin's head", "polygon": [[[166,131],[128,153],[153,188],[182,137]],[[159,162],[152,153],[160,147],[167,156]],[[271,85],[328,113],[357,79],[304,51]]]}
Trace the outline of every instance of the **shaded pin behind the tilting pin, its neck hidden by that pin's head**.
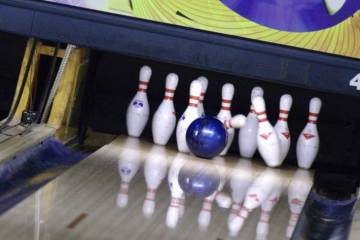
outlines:
{"label": "shaded pin behind the tilting pin, its neck hidden by that pin's head", "polygon": [[[251,99],[263,97],[264,90],[261,87],[254,87],[251,91]],[[244,158],[252,158],[257,148],[257,130],[259,122],[256,117],[254,106],[251,104],[250,112],[246,117],[246,124],[239,131],[240,155]]]}

